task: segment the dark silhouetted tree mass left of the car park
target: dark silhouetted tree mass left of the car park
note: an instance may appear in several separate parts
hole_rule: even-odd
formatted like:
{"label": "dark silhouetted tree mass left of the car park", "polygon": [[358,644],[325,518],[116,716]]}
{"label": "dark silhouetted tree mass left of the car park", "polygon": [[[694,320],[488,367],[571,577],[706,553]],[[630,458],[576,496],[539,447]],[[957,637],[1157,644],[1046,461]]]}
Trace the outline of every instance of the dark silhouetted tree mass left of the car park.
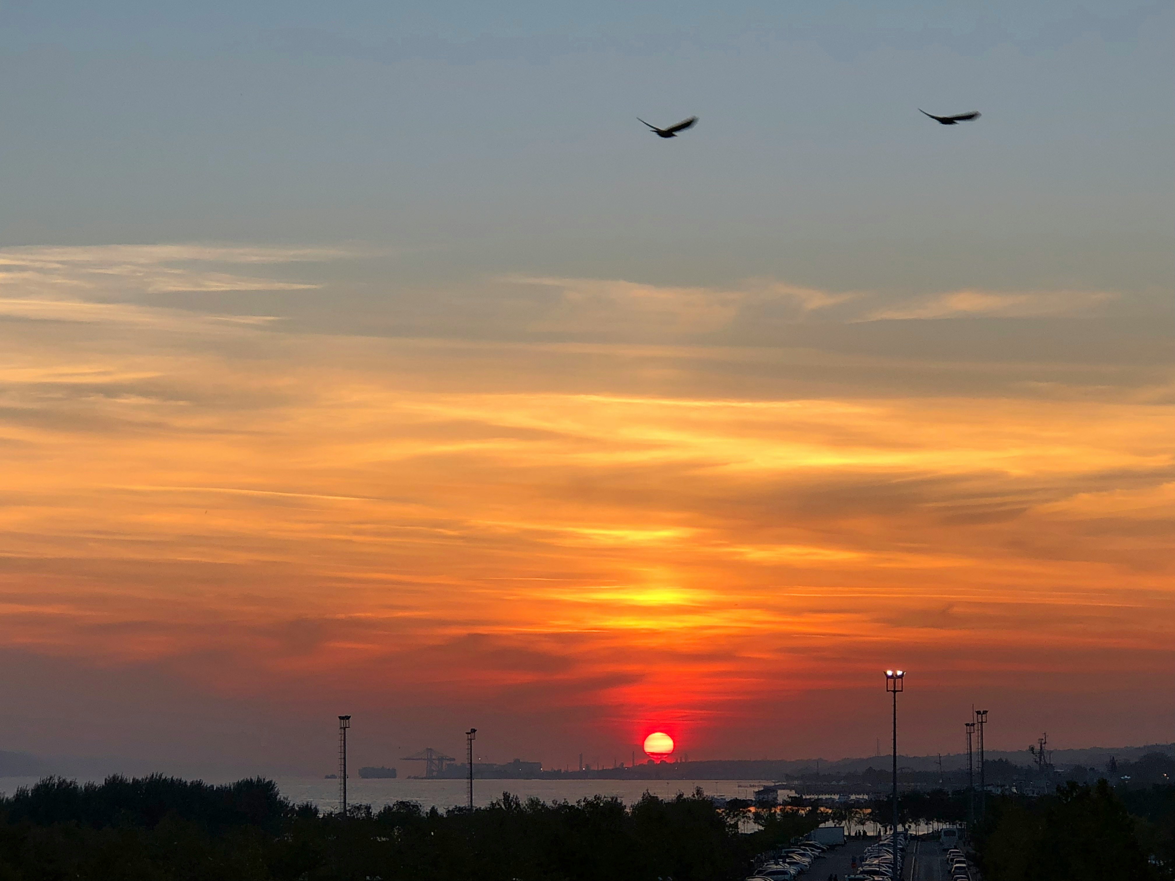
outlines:
{"label": "dark silhouetted tree mass left of the car park", "polygon": [[293,805],[268,780],[51,778],[0,798],[0,881],[724,881],[819,823],[700,791],[575,803],[510,794],[475,811],[397,802],[347,816]]}

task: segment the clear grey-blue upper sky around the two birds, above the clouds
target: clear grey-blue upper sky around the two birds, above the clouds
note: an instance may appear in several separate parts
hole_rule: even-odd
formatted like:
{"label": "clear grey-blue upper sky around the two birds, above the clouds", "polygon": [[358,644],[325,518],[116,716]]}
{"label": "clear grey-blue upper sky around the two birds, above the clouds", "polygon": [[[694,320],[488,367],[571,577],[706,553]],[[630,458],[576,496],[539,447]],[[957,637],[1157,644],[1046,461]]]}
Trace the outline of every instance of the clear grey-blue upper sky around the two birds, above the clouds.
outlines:
{"label": "clear grey-blue upper sky around the two birds, above the clouds", "polygon": [[[1169,268],[1162,5],[0,15],[12,244],[362,241],[430,280],[1141,289]],[[690,114],[672,142],[634,120]]]}

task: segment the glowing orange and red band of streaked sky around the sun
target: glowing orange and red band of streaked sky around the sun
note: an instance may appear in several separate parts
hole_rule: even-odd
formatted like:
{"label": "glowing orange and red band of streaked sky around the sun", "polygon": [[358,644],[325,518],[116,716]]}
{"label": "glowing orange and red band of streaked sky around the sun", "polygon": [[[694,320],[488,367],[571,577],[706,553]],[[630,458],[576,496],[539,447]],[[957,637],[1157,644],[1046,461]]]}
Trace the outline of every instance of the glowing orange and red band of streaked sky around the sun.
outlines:
{"label": "glowing orange and red band of streaked sky around the sun", "polygon": [[653,724],[691,758],[872,754],[860,706],[895,657],[935,713],[1003,682],[1029,720],[1014,746],[1045,729],[1042,692],[1108,701],[1168,670],[1161,371],[1021,383],[1023,365],[905,350],[331,337],[135,309],[6,325],[12,652],[297,712],[369,700],[424,732],[477,722],[486,749],[461,713],[498,714],[551,760],[569,732],[627,756]]}

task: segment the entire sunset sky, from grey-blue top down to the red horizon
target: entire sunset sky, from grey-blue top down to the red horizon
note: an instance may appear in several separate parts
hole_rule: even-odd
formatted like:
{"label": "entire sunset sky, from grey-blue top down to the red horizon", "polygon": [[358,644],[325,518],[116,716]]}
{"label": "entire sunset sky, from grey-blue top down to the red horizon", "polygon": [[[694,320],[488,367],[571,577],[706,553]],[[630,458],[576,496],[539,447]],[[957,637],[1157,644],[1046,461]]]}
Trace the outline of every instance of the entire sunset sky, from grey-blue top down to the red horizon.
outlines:
{"label": "entire sunset sky, from grey-blue top down to the red horizon", "polygon": [[0,749],[1171,741],[1173,36],[0,5]]}

